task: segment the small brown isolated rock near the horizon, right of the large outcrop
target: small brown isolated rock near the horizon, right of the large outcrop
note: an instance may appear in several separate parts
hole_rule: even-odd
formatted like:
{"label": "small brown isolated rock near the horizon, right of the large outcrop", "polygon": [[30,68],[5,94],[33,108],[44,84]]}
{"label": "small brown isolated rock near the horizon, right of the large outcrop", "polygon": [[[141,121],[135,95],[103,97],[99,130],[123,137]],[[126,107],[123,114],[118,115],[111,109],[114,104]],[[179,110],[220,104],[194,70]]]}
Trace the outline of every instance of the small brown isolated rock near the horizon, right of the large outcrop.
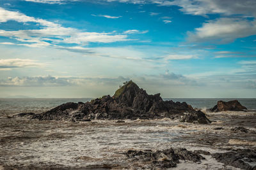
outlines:
{"label": "small brown isolated rock near the horizon, right of the large outcrop", "polygon": [[210,109],[212,112],[218,111],[245,111],[247,110],[246,107],[242,106],[239,101],[218,101],[218,103]]}

